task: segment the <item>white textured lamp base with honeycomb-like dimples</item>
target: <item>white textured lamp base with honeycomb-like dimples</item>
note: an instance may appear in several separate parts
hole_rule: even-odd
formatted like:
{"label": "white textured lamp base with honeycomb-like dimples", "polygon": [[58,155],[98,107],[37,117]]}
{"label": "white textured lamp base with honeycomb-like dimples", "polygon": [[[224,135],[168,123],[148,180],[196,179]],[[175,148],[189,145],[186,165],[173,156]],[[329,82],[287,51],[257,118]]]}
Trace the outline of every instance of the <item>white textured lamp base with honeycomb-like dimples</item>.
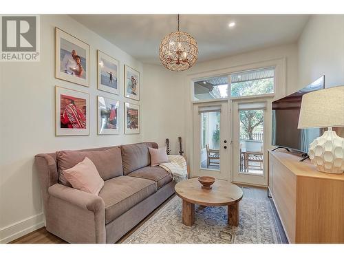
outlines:
{"label": "white textured lamp base with honeycomb-like dimples", "polygon": [[319,171],[341,174],[344,171],[344,138],[329,129],[310,144],[308,155]]}

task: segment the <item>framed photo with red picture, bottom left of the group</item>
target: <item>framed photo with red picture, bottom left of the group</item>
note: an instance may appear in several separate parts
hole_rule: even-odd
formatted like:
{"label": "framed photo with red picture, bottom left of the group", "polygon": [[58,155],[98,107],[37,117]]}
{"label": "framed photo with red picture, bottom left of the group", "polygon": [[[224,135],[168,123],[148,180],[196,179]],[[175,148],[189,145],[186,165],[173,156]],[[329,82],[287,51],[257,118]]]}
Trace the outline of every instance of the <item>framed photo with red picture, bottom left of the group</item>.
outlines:
{"label": "framed photo with red picture, bottom left of the group", "polygon": [[89,94],[55,87],[56,136],[89,135]]}

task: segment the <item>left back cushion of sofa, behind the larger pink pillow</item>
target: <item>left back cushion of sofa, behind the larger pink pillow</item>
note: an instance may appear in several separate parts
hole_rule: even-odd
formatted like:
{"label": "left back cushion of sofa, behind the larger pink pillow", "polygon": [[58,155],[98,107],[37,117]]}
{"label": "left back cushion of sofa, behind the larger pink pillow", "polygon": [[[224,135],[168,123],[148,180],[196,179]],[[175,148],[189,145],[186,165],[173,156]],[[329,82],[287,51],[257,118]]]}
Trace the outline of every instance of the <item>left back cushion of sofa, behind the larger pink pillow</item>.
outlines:
{"label": "left back cushion of sofa, behind the larger pink pillow", "polygon": [[71,186],[65,179],[63,171],[82,162],[85,157],[92,160],[103,180],[123,175],[120,147],[103,151],[57,151],[58,181],[65,186]]}

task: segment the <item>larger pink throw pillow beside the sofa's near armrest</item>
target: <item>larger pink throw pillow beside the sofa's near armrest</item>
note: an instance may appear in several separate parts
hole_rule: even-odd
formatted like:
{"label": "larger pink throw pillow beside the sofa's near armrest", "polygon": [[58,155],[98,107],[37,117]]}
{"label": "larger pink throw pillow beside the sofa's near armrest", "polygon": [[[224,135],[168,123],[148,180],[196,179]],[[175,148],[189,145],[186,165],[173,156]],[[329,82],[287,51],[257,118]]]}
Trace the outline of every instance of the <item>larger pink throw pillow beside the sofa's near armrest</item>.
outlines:
{"label": "larger pink throw pillow beside the sofa's near armrest", "polygon": [[63,173],[73,188],[80,191],[98,195],[104,186],[104,180],[100,178],[96,166],[87,157],[72,168],[64,170]]}

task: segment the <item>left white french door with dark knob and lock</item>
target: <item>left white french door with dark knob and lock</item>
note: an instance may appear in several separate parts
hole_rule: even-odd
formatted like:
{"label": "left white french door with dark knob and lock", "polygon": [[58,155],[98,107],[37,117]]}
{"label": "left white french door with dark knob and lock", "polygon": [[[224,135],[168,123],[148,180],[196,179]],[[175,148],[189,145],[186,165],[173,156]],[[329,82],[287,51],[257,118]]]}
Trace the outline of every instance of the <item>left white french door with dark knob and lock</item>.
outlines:
{"label": "left white french door with dark knob and lock", "polygon": [[230,140],[227,101],[193,105],[192,176],[229,180]]}

